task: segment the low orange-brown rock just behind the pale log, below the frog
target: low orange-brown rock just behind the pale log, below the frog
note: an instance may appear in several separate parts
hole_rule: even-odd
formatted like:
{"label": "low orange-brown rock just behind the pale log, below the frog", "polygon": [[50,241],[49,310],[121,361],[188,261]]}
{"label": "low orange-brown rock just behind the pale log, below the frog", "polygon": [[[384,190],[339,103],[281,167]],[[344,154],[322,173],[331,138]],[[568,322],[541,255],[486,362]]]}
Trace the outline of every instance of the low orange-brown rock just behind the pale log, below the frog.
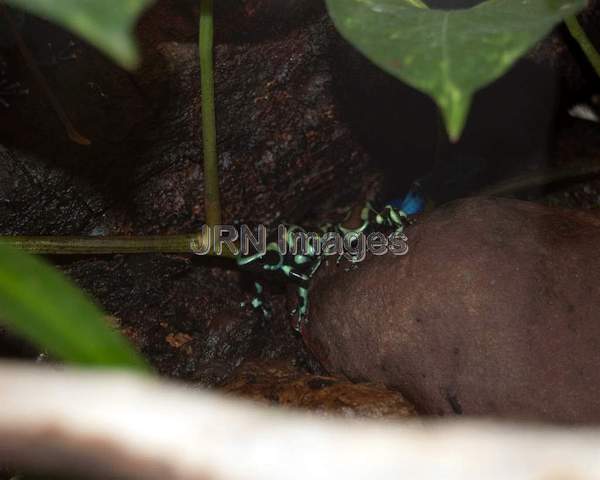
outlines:
{"label": "low orange-brown rock just behind the pale log, below the frog", "polygon": [[323,415],[366,418],[416,415],[412,404],[400,393],[383,385],[310,375],[282,362],[247,362],[222,388],[232,395]]}

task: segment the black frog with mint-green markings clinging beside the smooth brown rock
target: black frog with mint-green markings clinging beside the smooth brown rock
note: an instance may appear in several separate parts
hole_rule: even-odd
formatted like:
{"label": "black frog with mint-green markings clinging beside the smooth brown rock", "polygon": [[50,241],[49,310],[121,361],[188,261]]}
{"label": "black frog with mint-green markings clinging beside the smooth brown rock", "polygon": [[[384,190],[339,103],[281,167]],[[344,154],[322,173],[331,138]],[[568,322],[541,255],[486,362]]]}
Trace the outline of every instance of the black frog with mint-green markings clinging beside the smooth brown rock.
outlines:
{"label": "black frog with mint-green markings clinging beside the smooth brown rock", "polygon": [[[386,205],[383,210],[377,211],[371,203],[367,203],[361,211],[362,224],[355,229],[343,227],[341,224],[325,224],[320,227],[322,235],[328,232],[337,232],[344,236],[347,234],[367,234],[369,231],[378,231],[381,229],[391,230],[393,233],[402,233],[404,227],[409,223],[408,216],[402,210]],[[292,233],[304,230],[297,225],[290,225],[287,232],[286,242],[288,248],[292,247],[294,240]],[[294,329],[297,332],[307,323],[309,301],[308,294],[310,282],[323,262],[324,254],[317,255],[312,245],[309,243],[309,251],[306,254],[292,255],[287,253],[283,255],[279,251],[277,242],[271,242],[267,245],[264,254],[255,253],[252,255],[239,256],[237,263],[241,268],[258,270],[259,272],[277,274],[295,285],[297,285],[298,305],[291,312],[295,317]],[[338,263],[343,257],[340,255]],[[355,267],[357,259],[350,257],[349,262]],[[271,317],[271,311],[266,305],[263,297],[263,286],[260,282],[254,282],[255,297],[250,304],[254,309],[260,309],[266,318]],[[242,303],[242,306],[245,304]]]}

